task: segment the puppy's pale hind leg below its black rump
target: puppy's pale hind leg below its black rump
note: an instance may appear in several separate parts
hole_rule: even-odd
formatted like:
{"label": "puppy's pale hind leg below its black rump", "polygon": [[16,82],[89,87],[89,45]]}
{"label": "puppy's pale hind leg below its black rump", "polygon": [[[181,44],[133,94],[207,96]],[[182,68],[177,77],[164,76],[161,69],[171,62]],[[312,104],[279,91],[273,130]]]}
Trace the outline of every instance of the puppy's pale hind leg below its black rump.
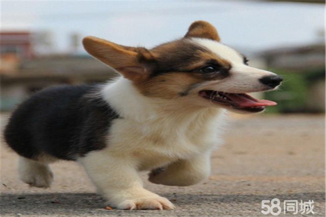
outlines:
{"label": "puppy's pale hind leg below its black rump", "polygon": [[18,173],[21,181],[34,187],[49,187],[53,180],[53,173],[47,164],[21,156]]}

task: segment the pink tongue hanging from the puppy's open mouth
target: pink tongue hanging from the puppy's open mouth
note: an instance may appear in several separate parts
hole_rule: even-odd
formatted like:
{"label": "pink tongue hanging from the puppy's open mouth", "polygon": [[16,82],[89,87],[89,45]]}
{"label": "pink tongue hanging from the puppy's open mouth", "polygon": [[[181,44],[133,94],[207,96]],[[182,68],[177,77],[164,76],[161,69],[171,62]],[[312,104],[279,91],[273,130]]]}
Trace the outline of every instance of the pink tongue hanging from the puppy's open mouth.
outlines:
{"label": "pink tongue hanging from the puppy's open mouth", "polygon": [[269,101],[266,99],[255,99],[247,94],[228,94],[226,95],[229,99],[236,102],[241,106],[268,106],[277,105],[276,102]]}

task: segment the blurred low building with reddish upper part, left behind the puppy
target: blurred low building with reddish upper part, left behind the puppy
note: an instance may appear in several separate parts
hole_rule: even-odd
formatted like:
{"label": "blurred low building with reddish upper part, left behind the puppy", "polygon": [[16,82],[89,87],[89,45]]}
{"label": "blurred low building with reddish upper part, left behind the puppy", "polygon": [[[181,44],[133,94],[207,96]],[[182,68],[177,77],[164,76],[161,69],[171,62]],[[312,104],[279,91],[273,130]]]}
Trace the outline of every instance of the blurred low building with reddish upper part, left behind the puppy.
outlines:
{"label": "blurred low building with reddish upper part, left behind the puppy", "polygon": [[88,55],[42,55],[35,51],[40,47],[35,38],[31,33],[1,33],[1,111],[12,111],[45,87],[104,82],[115,75],[112,68]]}

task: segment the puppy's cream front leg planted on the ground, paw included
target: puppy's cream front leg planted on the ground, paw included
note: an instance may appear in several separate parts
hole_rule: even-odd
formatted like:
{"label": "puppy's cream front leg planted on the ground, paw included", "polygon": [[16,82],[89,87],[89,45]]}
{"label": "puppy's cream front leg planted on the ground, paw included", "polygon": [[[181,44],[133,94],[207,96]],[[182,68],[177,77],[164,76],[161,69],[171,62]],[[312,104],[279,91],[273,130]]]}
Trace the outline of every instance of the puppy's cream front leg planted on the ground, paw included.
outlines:
{"label": "puppy's cream front leg planted on the ground, paw included", "polygon": [[118,209],[174,208],[168,199],[143,188],[137,164],[130,157],[92,151],[79,161],[108,204]]}

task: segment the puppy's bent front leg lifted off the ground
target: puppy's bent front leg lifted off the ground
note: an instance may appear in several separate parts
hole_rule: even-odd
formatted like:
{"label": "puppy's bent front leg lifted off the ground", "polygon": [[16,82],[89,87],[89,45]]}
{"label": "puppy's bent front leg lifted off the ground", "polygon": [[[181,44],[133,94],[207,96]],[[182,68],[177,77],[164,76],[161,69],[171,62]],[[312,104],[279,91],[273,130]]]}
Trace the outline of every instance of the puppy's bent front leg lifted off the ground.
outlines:
{"label": "puppy's bent front leg lifted off the ground", "polygon": [[153,170],[148,180],[156,184],[188,186],[206,179],[210,174],[210,154],[180,159],[167,168]]}

